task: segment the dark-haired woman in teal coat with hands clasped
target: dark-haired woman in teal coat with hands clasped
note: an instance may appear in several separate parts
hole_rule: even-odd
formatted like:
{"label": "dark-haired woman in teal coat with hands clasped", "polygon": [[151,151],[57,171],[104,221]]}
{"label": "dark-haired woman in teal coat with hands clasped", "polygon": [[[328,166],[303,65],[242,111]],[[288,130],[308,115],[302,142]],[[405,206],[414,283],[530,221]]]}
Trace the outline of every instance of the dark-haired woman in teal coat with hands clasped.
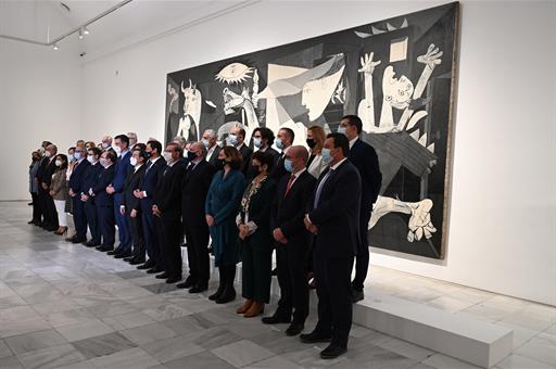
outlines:
{"label": "dark-haired woman in teal coat with hands clasped", "polygon": [[245,188],[245,179],[241,173],[242,158],[236,148],[225,147],[222,149],[218,160],[224,169],[214,175],[208,188],[205,216],[220,280],[216,293],[208,298],[217,304],[225,304],[236,298],[233,279],[236,278],[236,264],[240,260],[241,255],[236,215]]}

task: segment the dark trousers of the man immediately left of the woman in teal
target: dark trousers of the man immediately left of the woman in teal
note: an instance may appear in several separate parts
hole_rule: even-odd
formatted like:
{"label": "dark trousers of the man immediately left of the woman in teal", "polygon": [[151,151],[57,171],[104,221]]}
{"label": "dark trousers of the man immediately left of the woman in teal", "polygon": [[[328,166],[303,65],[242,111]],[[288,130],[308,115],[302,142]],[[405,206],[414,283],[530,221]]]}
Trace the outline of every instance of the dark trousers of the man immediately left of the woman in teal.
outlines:
{"label": "dark trousers of the man immediately left of the woman in teal", "polygon": [[189,277],[199,287],[206,287],[211,277],[208,257],[208,226],[184,225],[187,242]]}

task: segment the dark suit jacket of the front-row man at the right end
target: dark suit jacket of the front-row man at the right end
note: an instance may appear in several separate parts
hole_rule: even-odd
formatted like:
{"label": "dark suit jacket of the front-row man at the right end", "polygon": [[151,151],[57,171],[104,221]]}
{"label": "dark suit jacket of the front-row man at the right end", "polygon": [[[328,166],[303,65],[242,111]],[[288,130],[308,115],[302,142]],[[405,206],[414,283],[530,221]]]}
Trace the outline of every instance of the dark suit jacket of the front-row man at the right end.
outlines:
{"label": "dark suit jacket of the front-row man at the right end", "polygon": [[328,176],[315,207],[318,184],[329,170],[318,179],[309,203],[308,217],[318,227],[315,257],[352,257],[361,242],[361,176],[350,161],[344,161]]}

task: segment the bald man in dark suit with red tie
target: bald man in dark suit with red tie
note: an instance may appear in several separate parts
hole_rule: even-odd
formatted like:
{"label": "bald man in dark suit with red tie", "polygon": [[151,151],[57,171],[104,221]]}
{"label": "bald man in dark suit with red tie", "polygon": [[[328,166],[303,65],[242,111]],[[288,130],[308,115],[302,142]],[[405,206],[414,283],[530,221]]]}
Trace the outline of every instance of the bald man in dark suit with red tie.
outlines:
{"label": "bald man in dark suit with red tie", "polygon": [[263,322],[275,325],[293,321],[286,330],[288,335],[303,331],[308,315],[308,285],[306,282],[312,233],[305,229],[303,218],[316,179],[307,170],[308,152],[304,147],[291,147],[286,154],[286,166],[290,173],[278,183],[275,203],[270,213],[270,227],[276,241],[276,263],[280,301],[278,309]]}

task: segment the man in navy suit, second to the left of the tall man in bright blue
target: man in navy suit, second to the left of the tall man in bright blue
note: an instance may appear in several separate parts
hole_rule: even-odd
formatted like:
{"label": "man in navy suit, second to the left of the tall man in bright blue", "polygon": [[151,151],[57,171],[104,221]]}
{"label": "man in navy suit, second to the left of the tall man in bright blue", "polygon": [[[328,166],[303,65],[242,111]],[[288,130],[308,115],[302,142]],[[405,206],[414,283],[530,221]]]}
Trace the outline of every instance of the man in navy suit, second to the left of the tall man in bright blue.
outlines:
{"label": "man in navy suit, second to the left of the tall man in bright blue", "polygon": [[97,184],[100,171],[104,170],[104,167],[99,163],[100,155],[102,154],[102,151],[99,148],[90,148],[87,152],[87,161],[90,165],[87,167],[85,178],[83,180],[80,200],[85,205],[85,215],[87,216],[87,224],[91,231],[91,239],[85,245],[87,247],[97,247],[101,243],[101,233],[97,218],[94,198],[89,195],[89,190]]}

